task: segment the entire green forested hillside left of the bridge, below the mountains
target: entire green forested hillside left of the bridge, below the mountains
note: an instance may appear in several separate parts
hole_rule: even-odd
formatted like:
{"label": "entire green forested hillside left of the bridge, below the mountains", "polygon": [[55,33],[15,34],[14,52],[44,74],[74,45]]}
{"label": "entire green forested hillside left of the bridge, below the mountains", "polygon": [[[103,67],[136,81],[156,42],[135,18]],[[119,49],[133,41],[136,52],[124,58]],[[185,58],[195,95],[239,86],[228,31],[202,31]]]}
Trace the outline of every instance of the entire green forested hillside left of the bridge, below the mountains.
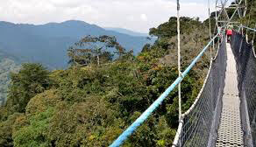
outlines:
{"label": "entire green forested hillside left of the bridge, below the mountains", "polygon": [[[198,19],[181,18],[183,70],[209,41]],[[158,37],[139,56],[123,52],[101,64],[48,71],[23,64],[11,73],[8,101],[0,108],[0,146],[108,146],[178,76],[176,18],[153,28]],[[71,56],[73,57],[73,56]],[[182,110],[194,102],[209,67],[209,52],[181,85]],[[171,146],[178,125],[177,89],[124,146]]]}

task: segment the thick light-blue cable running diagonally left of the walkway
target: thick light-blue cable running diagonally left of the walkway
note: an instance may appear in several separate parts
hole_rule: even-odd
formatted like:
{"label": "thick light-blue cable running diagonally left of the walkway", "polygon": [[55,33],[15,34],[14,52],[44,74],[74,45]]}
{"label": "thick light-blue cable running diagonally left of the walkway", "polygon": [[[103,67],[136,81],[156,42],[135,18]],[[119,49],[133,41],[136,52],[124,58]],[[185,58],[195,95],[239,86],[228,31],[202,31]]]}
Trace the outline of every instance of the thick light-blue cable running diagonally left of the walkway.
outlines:
{"label": "thick light-blue cable running diagonally left of the walkway", "polygon": [[174,88],[179,83],[181,83],[184,77],[189,73],[192,67],[196,65],[196,62],[198,61],[198,59],[200,59],[203,56],[203,53],[209,48],[209,46],[212,44],[215,38],[218,37],[219,34],[220,34],[220,31],[217,33],[217,35],[214,38],[210,40],[208,45],[206,45],[203,48],[203,51],[198,54],[196,59],[194,59],[191,62],[188,68],[183,73],[181,73],[181,76],[178,77],[174,81],[174,83],[169,88],[167,88],[167,90],[162,95],[160,95],[160,97],[155,102],[153,102],[153,104],[148,109],[146,109],[146,111],[141,116],[139,116],[139,118],[134,123],[132,123],[130,127],[124,130],[124,132],[117,138],[117,140],[115,140],[112,144],[110,144],[110,147],[119,147],[120,145],[122,145],[124,141],[132,135],[132,132],[137,130],[137,128],[146,121],[148,116],[150,116],[153,113],[153,111],[157,109],[160,106],[160,104],[166,99],[167,95],[169,95],[174,90]]}

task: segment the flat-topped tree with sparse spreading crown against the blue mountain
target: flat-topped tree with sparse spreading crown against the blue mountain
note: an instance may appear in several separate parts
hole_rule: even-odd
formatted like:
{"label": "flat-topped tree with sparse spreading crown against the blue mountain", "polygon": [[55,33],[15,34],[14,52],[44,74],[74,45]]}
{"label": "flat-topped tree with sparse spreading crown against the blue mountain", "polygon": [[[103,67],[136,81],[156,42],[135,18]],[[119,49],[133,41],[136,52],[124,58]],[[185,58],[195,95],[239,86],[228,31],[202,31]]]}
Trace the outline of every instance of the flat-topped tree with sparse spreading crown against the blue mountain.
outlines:
{"label": "flat-topped tree with sparse spreading crown against the blue mountain", "polygon": [[76,66],[88,66],[96,61],[97,66],[100,65],[101,59],[109,61],[113,54],[109,52],[110,48],[115,48],[118,56],[124,54],[125,49],[117,42],[117,38],[103,35],[100,37],[86,36],[75,45],[68,49],[70,60],[68,63]]}

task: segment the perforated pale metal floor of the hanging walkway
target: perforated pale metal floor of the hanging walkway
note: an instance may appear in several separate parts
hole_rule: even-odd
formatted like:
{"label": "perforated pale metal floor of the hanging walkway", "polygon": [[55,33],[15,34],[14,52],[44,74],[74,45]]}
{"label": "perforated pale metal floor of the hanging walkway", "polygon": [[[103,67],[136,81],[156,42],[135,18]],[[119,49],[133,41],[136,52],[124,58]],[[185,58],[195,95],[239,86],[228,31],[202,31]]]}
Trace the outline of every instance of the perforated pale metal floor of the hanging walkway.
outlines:
{"label": "perforated pale metal floor of the hanging walkway", "polygon": [[217,147],[244,146],[238,97],[238,74],[231,45],[226,44],[227,68],[223,95],[223,109],[217,130]]}

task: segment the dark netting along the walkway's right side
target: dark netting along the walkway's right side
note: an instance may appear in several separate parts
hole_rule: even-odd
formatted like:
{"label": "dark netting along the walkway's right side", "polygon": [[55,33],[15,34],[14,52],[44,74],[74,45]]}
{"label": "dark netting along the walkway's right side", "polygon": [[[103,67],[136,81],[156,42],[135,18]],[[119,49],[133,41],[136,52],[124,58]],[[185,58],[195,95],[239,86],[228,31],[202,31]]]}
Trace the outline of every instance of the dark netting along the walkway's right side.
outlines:
{"label": "dark netting along the walkway's right side", "polygon": [[[241,99],[241,116],[245,145],[256,146],[256,56],[252,44],[235,33],[231,48],[237,61],[238,88]],[[253,145],[252,145],[253,144]]]}

